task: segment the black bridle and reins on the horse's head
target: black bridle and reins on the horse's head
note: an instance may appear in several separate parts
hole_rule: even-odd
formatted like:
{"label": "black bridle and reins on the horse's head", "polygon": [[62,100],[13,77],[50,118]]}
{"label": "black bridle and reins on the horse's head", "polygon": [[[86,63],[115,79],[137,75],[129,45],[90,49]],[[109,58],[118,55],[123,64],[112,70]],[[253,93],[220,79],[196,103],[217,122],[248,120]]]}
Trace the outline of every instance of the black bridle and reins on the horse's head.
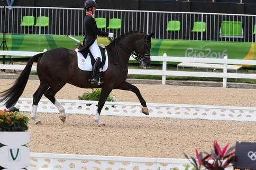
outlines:
{"label": "black bridle and reins on the horse's head", "polygon": [[[109,39],[109,41],[110,41],[111,43],[112,43],[114,40],[115,40],[115,38]],[[119,43],[119,42],[115,42],[115,43],[117,43],[125,52],[130,53],[129,49],[127,49],[124,45],[122,45],[122,44]],[[150,40],[149,40],[149,35],[146,34],[145,39],[144,39],[144,42],[143,42],[141,45],[139,45],[138,47],[135,48],[135,50],[136,50],[136,49],[138,49],[139,47],[141,47],[141,46],[144,44],[143,54],[137,54],[137,53],[135,53],[135,52],[132,52],[132,54],[131,54],[131,56],[132,56],[134,59],[136,59],[136,61],[141,62],[141,61],[142,61],[143,59],[145,59],[146,57],[150,57],[150,53],[144,54],[145,48],[147,47],[148,43],[151,44],[151,42],[150,42]]]}

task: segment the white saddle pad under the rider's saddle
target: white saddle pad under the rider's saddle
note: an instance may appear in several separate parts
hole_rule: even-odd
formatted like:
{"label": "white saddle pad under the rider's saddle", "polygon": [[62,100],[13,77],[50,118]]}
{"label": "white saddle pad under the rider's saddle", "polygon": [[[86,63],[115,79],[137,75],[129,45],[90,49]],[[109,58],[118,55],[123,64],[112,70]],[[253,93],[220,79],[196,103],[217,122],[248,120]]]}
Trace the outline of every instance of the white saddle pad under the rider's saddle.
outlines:
{"label": "white saddle pad under the rider's saddle", "polygon": [[[87,57],[85,58],[83,56],[83,54],[78,52],[78,49],[75,49],[75,51],[77,52],[77,64],[78,67],[83,70],[83,71],[92,71],[93,70],[93,66],[92,63],[90,62],[90,55],[88,54]],[[100,67],[99,71],[100,72],[105,72],[107,70],[108,67],[108,56],[107,56],[107,51],[105,51],[106,54],[106,62],[103,66],[103,69]]]}

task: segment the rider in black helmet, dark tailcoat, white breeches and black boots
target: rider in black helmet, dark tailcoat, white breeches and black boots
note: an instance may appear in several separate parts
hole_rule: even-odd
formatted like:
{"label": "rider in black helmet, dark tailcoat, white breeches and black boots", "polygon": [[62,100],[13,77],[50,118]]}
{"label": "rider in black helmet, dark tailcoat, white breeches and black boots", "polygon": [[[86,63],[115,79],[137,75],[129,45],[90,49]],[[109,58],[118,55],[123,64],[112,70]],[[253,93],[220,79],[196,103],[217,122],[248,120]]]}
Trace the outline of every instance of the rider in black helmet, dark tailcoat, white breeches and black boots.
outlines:
{"label": "rider in black helmet, dark tailcoat, white breeches and black boots", "polygon": [[94,19],[94,14],[96,11],[96,2],[94,0],[87,0],[84,3],[84,9],[86,11],[86,15],[84,18],[84,27],[85,27],[85,39],[84,39],[84,47],[79,48],[79,52],[83,53],[84,56],[87,56],[90,51],[95,58],[95,64],[93,66],[93,76],[90,79],[90,84],[102,84],[104,83],[101,79],[97,78],[97,73],[99,72],[99,66],[102,62],[102,54],[100,53],[100,49],[97,45],[97,35],[113,38],[114,33],[106,33],[102,32],[98,29],[97,24]]}

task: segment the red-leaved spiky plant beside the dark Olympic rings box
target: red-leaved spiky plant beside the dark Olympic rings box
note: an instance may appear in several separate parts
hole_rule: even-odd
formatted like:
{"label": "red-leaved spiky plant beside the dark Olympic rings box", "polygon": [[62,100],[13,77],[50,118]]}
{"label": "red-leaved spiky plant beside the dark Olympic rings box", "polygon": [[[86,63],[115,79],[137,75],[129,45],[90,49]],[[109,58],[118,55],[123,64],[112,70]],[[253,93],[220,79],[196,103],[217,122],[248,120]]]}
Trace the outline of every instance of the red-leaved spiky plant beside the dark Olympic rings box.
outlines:
{"label": "red-leaved spiky plant beside the dark Olympic rings box", "polygon": [[189,162],[193,164],[196,170],[224,170],[226,167],[232,166],[231,164],[234,162],[235,158],[235,146],[228,149],[227,144],[223,149],[221,149],[220,145],[218,145],[216,141],[214,141],[213,146],[214,150],[211,150],[211,154],[207,152],[198,153],[196,149],[197,159],[195,157],[190,157],[192,159],[192,162],[185,153],[184,155],[189,160]]}

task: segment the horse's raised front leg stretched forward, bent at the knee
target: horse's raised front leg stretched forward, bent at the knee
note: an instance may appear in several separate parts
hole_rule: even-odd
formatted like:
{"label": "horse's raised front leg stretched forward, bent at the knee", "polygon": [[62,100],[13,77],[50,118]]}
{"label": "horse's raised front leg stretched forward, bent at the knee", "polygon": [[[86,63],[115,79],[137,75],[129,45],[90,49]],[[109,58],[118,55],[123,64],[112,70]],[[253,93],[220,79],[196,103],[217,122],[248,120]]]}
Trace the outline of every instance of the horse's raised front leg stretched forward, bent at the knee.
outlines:
{"label": "horse's raised front leg stretched forward, bent at the knee", "polygon": [[142,113],[144,113],[145,115],[149,115],[149,109],[147,107],[146,101],[144,100],[140,93],[139,88],[128,82],[123,82],[117,87],[115,87],[115,89],[123,89],[124,91],[132,91],[133,93],[135,93],[139,98],[141,105],[143,106],[143,108],[141,109]]}

